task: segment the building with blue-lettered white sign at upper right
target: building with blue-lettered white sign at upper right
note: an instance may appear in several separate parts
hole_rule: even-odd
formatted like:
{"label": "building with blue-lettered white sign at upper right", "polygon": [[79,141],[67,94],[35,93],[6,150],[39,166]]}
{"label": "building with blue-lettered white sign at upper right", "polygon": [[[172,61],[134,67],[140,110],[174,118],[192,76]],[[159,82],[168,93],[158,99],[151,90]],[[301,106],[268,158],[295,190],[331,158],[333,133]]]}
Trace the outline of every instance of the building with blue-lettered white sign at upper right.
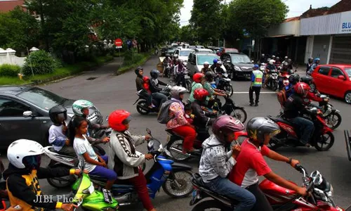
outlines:
{"label": "building with blue-lettered white sign at upper right", "polygon": [[321,64],[351,63],[351,1],[312,8],[271,27],[263,53],[286,54],[298,63],[319,57]]}

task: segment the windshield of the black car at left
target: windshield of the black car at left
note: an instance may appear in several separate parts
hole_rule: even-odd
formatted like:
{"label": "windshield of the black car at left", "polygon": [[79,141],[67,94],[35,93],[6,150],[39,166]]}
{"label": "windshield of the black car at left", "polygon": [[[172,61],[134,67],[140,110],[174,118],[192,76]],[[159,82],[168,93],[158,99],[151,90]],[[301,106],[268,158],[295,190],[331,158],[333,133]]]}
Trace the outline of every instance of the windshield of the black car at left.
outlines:
{"label": "windshield of the black car at left", "polygon": [[30,103],[33,103],[34,105],[37,105],[45,110],[49,110],[50,108],[53,108],[53,106],[61,104],[65,101],[65,98],[37,87],[23,91],[22,93],[18,94],[18,97],[25,99],[26,101],[29,101]]}

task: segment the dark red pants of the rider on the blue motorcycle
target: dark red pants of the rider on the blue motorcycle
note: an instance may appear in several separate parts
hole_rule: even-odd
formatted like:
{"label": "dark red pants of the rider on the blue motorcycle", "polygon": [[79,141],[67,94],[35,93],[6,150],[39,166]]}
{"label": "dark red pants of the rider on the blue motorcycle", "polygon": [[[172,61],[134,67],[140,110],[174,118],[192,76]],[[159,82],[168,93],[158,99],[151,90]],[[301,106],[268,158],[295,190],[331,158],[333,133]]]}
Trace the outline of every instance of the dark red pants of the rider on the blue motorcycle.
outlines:
{"label": "dark red pants of the rider on the blue motorcycle", "polygon": [[143,171],[139,168],[139,175],[129,179],[131,184],[133,184],[135,190],[138,192],[139,199],[143,203],[144,208],[147,211],[154,209],[154,206],[151,203],[149,192],[146,187],[146,178],[143,174]]}

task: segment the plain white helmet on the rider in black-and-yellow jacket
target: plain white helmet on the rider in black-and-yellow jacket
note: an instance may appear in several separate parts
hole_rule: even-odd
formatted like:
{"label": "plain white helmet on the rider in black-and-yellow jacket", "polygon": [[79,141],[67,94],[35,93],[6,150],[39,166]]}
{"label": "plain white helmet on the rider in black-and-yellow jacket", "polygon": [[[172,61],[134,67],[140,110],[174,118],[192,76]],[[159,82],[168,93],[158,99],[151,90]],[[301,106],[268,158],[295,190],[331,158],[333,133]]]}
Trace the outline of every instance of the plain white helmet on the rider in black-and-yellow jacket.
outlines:
{"label": "plain white helmet on the rider in black-and-yellow jacket", "polygon": [[24,169],[23,158],[31,155],[41,155],[44,148],[37,141],[19,139],[13,141],[7,148],[7,158],[12,165],[19,169]]}

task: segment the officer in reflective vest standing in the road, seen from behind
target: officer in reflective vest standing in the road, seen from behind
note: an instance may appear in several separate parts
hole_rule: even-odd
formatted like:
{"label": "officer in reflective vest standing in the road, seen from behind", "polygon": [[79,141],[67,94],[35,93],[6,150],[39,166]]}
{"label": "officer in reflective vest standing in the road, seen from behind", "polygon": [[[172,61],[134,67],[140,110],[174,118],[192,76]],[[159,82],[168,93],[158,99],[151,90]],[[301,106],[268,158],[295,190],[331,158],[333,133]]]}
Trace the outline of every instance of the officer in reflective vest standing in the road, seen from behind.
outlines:
{"label": "officer in reflective vest standing in the road, seen from behind", "polygon": [[260,91],[263,82],[263,72],[258,70],[258,68],[258,65],[255,65],[251,74],[251,86],[249,90],[250,106],[253,106],[253,91],[255,91],[256,95],[255,106],[258,106],[258,100],[260,98]]}

